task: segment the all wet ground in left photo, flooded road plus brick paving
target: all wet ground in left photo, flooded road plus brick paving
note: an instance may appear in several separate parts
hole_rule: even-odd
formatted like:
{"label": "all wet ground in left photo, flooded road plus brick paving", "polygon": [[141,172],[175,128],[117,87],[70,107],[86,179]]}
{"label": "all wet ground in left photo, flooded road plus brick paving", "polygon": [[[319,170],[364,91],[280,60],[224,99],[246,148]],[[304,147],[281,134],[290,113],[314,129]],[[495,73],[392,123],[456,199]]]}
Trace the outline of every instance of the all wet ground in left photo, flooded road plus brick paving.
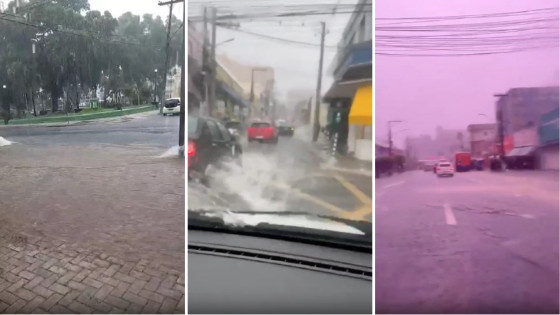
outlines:
{"label": "all wet ground in left photo, flooded road plus brick paving", "polygon": [[184,312],[178,117],[2,127],[0,311]]}

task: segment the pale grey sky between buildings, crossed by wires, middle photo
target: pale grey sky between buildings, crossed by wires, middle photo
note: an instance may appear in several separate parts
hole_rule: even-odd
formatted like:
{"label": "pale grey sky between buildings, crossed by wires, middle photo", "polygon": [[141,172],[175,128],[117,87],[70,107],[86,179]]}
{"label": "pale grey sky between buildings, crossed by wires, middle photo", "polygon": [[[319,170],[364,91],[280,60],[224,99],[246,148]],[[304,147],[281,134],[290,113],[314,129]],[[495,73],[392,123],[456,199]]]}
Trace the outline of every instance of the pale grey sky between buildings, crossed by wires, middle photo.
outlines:
{"label": "pale grey sky between buildings, crossed by wires, middle photo", "polygon": [[[337,0],[313,0],[301,1],[300,3],[314,4],[318,2],[322,4],[336,4]],[[340,1],[338,2],[340,3]],[[271,5],[278,5],[282,4],[283,1],[271,0],[269,3]],[[357,0],[346,0],[343,3],[357,3]],[[193,12],[196,12],[195,9],[200,11],[199,8],[189,5],[189,15],[193,15]],[[278,10],[278,8],[273,7],[271,10]],[[320,22],[324,21],[328,30],[328,34],[325,37],[325,45],[336,46],[349,17],[350,14],[283,18],[282,24],[278,23],[279,19],[256,20],[252,22],[241,21],[240,29],[293,41],[313,43],[318,46],[321,42]],[[319,67],[319,47],[307,47],[264,39],[224,28],[218,28],[216,34],[216,42],[218,44],[231,38],[235,39],[219,45],[217,47],[217,54],[225,54],[241,63],[273,67],[278,93],[283,94],[290,89],[301,88],[308,88],[314,93]],[[322,83],[322,90],[324,92],[328,90],[333,82],[328,69],[335,54],[336,49],[325,49]]]}

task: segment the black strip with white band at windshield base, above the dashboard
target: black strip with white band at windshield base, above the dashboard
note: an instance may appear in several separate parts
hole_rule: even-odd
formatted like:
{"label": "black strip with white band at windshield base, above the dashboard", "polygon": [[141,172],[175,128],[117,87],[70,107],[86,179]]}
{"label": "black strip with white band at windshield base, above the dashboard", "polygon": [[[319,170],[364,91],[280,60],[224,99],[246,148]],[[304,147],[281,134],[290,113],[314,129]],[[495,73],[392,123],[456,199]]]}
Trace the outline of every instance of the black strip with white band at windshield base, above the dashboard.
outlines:
{"label": "black strip with white band at windshield base, above the dashboard", "polygon": [[307,243],[319,246],[328,246],[365,253],[372,252],[372,224],[365,221],[352,221],[329,216],[312,215],[305,212],[270,212],[270,211],[224,211],[224,215],[275,215],[283,216],[305,216],[330,220],[359,230],[361,233],[345,233],[329,229],[306,228],[302,226],[291,226],[275,224],[274,222],[261,222],[258,224],[228,224],[220,217],[217,211],[189,210],[189,230],[212,231],[219,233],[242,234],[256,237],[267,237],[272,239],[287,240],[293,242]]}

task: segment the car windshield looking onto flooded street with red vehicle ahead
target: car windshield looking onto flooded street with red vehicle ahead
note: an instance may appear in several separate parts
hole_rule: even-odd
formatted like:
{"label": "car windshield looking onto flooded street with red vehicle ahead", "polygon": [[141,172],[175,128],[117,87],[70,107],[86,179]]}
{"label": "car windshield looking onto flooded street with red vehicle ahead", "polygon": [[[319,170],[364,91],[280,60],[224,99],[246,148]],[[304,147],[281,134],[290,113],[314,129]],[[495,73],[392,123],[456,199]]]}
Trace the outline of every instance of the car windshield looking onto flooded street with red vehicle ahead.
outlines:
{"label": "car windshield looking onto flooded street with red vehicle ahead", "polygon": [[[266,5],[221,1],[215,11],[206,8],[207,17],[203,1],[189,2],[188,111],[219,121],[226,131],[240,126],[243,131],[234,133],[234,141],[226,141],[224,149],[220,127],[208,126],[206,140],[192,144],[188,208],[255,214],[227,217],[245,221],[259,221],[262,213],[270,212],[266,217],[270,224],[293,220],[298,229],[307,227],[317,235],[320,230],[313,227],[331,225],[314,225],[310,218],[371,225],[373,126],[367,91],[372,77],[373,4],[296,2],[286,9],[280,0]],[[216,28],[211,25],[214,14]],[[237,24],[238,30],[233,27]],[[214,45],[213,29],[215,63],[207,54]],[[317,31],[325,36],[322,57]],[[318,98],[320,63],[324,81]],[[215,75],[208,71],[212,64]],[[330,68],[343,72],[330,73]],[[360,95],[356,102],[365,109],[359,115],[365,116],[352,123],[348,116],[356,93]],[[300,233],[294,225],[282,225],[283,230]]]}

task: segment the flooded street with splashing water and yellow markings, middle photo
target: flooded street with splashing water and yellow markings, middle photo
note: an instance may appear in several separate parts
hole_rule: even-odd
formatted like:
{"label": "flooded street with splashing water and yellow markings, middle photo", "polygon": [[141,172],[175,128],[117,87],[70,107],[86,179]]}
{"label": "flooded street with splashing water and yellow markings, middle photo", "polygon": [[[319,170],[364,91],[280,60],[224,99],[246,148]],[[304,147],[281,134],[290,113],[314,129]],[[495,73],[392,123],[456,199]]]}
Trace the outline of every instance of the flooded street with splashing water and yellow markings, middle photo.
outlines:
{"label": "flooded street with splashing water and yellow markings, middle photo", "polygon": [[371,221],[372,175],[329,162],[304,130],[277,144],[244,143],[243,165],[211,173],[208,187],[189,182],[189,209],[301,212]]}

